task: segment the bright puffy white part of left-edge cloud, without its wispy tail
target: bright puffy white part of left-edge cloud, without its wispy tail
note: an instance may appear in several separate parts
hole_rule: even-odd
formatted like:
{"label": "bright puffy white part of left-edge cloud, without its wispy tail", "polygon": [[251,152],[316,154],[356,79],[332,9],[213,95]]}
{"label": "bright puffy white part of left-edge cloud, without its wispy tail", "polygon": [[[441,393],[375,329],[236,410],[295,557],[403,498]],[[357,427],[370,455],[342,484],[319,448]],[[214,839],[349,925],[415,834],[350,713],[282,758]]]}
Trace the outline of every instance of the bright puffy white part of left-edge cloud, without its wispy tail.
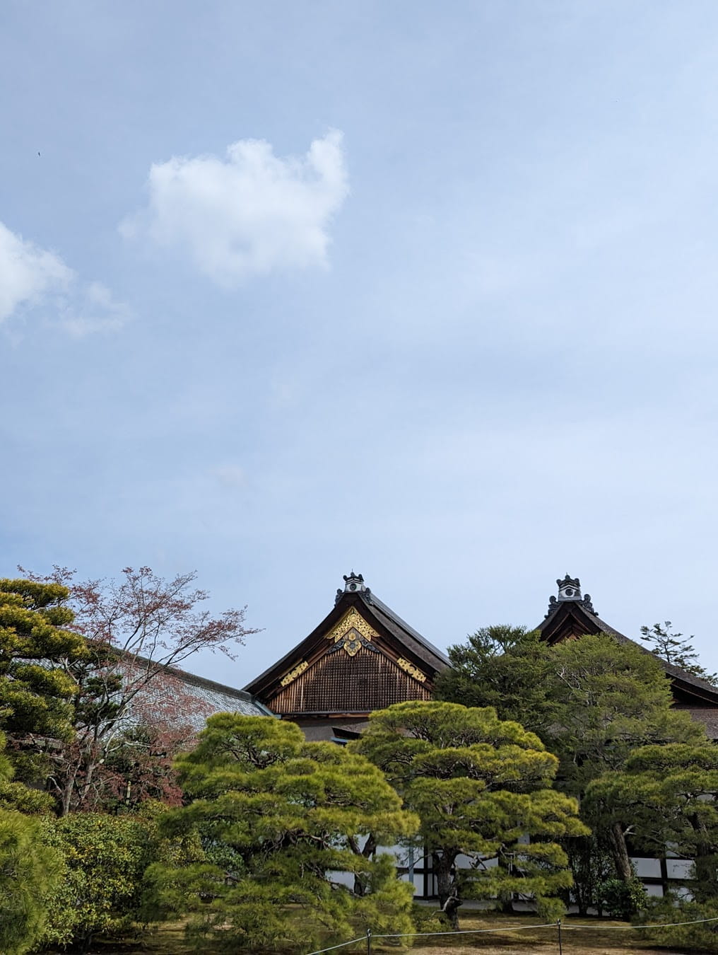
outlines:
{"label": "bright puffy white part of left-edge cloud, without its wispy tail", "polygon": [[0,321],[72,284],[72,268],[54,253],[26,242],[0,223]]}

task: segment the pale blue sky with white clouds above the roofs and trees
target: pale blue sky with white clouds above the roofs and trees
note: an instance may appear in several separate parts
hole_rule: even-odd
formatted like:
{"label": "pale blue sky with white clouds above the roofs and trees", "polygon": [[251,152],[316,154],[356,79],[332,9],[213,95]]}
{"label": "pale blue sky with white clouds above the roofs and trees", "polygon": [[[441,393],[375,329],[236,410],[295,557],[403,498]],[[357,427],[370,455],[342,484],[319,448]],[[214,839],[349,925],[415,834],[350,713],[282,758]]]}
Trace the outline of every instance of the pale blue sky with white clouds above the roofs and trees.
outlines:
{"label": "pale blue sky with white clouds above the roofs and trees", "polygon": [[352,568],[440,647],[568,572],[718,668],[712,0],[3,20],[3,573],[195,569],[236,686]]}

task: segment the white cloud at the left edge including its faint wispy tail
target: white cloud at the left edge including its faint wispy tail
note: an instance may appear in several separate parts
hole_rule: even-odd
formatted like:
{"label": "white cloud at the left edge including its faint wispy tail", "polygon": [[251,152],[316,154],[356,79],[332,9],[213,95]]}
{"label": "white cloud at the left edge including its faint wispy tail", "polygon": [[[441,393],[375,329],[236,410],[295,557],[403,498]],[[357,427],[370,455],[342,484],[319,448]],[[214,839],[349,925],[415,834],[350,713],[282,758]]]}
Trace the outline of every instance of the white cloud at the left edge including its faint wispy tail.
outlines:
{"label": "white cloud at the left edge including its faint wispy tail", "polygon": [[62,259],[0,223],[0,322],[21,308],[47,305],[75,337],[121,328],[130,308],[100,282],[81,283]]}

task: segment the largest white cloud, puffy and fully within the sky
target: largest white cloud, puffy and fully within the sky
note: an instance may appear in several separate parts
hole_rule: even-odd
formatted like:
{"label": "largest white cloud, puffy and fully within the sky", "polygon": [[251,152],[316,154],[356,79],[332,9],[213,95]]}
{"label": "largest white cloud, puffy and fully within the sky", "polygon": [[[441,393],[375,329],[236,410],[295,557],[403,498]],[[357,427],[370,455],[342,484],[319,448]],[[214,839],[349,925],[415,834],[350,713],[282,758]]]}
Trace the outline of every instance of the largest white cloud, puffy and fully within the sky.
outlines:
{"label": "largest white cloud, puffy and fully within the sky", "polygon": [[225,160],[175,157],[152,166],[149,186],[122,234],[179,249],[221,286],[326,265],[328,226],[349,191],[336,131],[301,158],[278,159],[262,139],[240,139]]}

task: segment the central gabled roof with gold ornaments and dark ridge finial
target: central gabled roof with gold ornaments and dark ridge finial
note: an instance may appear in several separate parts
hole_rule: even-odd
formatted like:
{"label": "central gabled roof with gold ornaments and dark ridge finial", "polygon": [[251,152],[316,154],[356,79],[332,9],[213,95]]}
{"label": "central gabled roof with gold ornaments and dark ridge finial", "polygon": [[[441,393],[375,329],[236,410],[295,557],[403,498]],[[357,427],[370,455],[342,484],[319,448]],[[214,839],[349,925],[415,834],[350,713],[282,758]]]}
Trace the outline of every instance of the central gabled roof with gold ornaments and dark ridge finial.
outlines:
{"label": "central gabled roof with gold ornaments and dark ridge finial", "polygon": [[[353,636],[347,636],[349,631]],[[342,648],[350,659],[342,654],[337,656]],[[321,661],[323,670],[319,674]],[[448,658],[440,649],[375,597],[360,574],[352,572],[344,577],[344,588],[338,589],[335,605],[321,623],[244,689],[275,709],[277,696],[287,696],[283,688],[296,681],[292,694],[298,702],[290,704],[284,700],[284,709],[280,711],[352,715],[378,709],[376,701],[378,693],[381,697],[378,687],[382,681],[387,699],[402,693],[401,698],[406,699],[425,697],[436,674],[448,665]],[[325,688],[326,705],[319,699],[319,682]],[[343,690],[338,689],[338,682]],[[312,692],[299,701],[297,688],[309,688],[312,683]],[[330,687],[334,688],[332,692],[326,692]],[[345,702],[339,706],[338,696],[342,693]],[[307,702],[310,698],[314,702]]]}

